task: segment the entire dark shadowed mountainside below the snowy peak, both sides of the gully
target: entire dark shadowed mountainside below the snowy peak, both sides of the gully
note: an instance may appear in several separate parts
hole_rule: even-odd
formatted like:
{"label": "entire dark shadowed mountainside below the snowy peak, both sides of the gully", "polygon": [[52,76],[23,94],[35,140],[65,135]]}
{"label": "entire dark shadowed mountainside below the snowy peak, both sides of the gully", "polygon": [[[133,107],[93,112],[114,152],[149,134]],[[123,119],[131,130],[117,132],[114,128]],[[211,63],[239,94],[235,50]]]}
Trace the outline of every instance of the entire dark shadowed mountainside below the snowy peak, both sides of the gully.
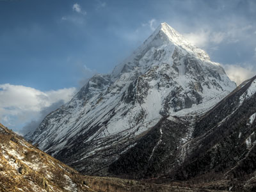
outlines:
{"label": "entire dark shadowed mountainside below the snowy peak, both sides of the gully", "polygon": [[[200,182],[237,180],[241,185],[234,184],[237,188],[255,189],[255,92],[256,76],[204,115],[162,118],[109,166],[109,172],[121,177]],[[182,135],[188,130],[191,137],[184,142]]]}

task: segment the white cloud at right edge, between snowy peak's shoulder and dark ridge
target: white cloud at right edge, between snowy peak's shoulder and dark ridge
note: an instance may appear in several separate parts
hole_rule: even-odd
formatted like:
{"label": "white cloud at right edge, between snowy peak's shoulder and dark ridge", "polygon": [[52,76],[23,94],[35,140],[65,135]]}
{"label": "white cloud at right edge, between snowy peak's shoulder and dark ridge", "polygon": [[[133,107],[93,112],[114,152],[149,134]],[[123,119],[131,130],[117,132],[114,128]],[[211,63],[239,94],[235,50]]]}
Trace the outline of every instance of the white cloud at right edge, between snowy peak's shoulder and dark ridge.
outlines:
{"label": "white cloud at right edge, between snowy peak's shoulder and dark ridge", "polygon": [[232,81],[235,81],[237,85],[256,75],[256,72],[253,71],[253,68],[250,66],[241,67],[239,65],[223,65],[223,67],[225,68],[227,76]]}

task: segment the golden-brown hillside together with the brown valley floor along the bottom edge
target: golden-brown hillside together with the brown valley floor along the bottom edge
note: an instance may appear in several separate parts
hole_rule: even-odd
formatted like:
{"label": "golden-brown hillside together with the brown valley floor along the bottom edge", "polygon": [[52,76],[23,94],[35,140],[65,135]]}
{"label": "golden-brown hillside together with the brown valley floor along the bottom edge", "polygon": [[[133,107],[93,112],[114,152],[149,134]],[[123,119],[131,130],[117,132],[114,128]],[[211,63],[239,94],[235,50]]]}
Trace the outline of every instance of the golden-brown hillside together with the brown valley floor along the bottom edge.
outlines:
{"label": "golden-brown hillside together with the brown valley floor along the bottom edge", "polygon": [[[38,150],[0,124],[0,191],[202,191],[173,184],[150,184],[135,180],[79,175],[75,170]],[[207,189],[205,191],[218,192]]]}

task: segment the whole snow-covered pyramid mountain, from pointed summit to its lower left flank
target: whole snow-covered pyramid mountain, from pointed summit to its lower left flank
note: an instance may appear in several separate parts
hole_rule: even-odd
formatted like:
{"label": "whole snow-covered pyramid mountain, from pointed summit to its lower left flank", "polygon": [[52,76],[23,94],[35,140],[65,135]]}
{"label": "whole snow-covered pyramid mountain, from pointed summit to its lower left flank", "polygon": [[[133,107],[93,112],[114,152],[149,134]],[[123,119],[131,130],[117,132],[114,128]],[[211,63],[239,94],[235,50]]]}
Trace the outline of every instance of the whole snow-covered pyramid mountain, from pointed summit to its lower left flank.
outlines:
{"label": "whole snow-covered pyramid mountain, from pointed summit to its lower left flank", "polygon": [[191,115],[192,108],[200,115],[234,88],[219,63],[163,23],[26,138],[78,170],[100,174],[163,116]]}

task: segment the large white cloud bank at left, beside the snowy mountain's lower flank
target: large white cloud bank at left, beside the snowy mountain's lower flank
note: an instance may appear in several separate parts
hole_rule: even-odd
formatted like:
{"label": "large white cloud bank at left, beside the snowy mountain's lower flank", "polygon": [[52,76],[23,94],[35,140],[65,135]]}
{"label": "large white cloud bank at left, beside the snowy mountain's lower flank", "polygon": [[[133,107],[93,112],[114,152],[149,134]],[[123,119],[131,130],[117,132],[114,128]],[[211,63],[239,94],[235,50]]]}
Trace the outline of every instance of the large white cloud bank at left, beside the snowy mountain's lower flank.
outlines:
{"label": "large white cloud bank at left, beside the snowy mountain's lower flank", "polygon": [[0,122],[13,128],[37,118],[42,109],[56,102],[68,102],[76,88],[42,92],[22,85],[0,84]]}

